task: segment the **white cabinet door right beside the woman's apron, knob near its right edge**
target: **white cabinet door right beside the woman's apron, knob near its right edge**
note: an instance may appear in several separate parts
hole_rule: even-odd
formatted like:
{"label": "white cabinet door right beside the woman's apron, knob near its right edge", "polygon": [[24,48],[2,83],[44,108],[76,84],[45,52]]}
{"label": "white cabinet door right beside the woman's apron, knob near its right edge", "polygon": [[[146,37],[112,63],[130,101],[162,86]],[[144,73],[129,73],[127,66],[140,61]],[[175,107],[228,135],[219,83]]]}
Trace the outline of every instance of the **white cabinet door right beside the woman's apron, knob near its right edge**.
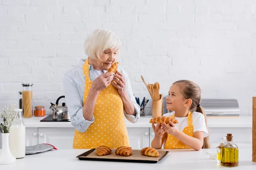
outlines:
{"label": "white cabinet door right beside the woman's apron, knob near its right edge", "polygon": [[143,149],[149,147],[149,128],[148,127],[128,127],[128,136],[131,148]]}

